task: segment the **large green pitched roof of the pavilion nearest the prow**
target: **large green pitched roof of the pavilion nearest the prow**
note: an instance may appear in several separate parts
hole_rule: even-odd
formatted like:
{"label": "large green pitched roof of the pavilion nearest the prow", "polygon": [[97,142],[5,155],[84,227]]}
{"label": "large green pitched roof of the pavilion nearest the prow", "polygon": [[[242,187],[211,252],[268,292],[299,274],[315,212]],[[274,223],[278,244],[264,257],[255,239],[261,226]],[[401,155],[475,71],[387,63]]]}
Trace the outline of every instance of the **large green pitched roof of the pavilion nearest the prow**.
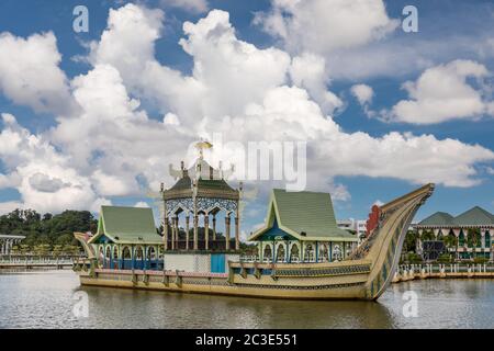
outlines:
{"label": "large green pitched roof of the pavilion nearest the prow", "polygon": [[287,192],[273,189],[268,208],[267,224],[249,240],[269,230],[278,220],[279,227],[301,240],[357,240],[356,236],[338,228],[328,193]]}

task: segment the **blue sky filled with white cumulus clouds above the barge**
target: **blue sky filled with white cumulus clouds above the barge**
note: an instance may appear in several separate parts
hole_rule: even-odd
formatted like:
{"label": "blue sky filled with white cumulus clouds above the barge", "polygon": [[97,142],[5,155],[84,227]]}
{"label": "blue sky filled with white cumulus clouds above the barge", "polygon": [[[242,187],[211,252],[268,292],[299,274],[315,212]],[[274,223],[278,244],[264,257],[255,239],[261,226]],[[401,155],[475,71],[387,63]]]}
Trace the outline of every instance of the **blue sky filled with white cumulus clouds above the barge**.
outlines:
{"label": "blue sky filled with white cumulus clouds above the barge", "polygon": [[[334,193],[338,218],[366,218],[375,201],[386,202],[428,181],[437,190],[417,218],[435,211],[456,215],[474,205],[493,212],[494,3],[370,2],[371,10],[348,14],[339,0],[284,8],[277,1],[149,0],[135,7],[110,0],[54,0],[49,5],[2,1],[0,113],[15,122],[3,117],[0,123],[0,210],[151,205],[145,192],[156,189],[160,172],[172,184],[168,163],[186,158],[194,139],[226,131],[228,140],[243,143],[305,138],[306,189]],[[72,30],[78,4],[89,10],[88,33]],[[401,29],[407,4],[418,9],[418,33]],[[113,29],[108,27],[110,9],[117,18]],[[229,18],[210,12],[214,9]],[[337,20],[344,18],[355,24],[339,26]],[[132,26],[125,19],[138,22],[135,32],[125,27]],[[297,27],[296,21],[308,24]],[[188,33],[186,22],[192,27]],[[296,57],[314,59],[301,60],[293,73]],[[149,66],[155,70],[146,71]],[[27,88],[11,89],[15,81]],[[412,88],[405,89],[405,82]],[[352,90],[358,84],[370,88],[371,98],[359,102]],[[237,99],[244,88],[245,97]],[[122,104],[122,110],[100,106],[101,100]],[[302,110],[311,106],[307,101],[321,109],[307,117],[311,128],[301,121],[306,115]],[[257,123],[246,112],[252,104],[262,107],[255,116],[266,123],[262,133],[249,129]],[[302,109],[296,112],[300,126],[284,124],[291,104]],[[405,105],[408,110],[401,109]],[[164,122],[167,114],[173,117]],[[233,128],[227,115],[247,123],[244,129],[227,133]],[[391,141],[390,133],[403,139]],[[346,147],[353,143],[356,147]],[[247,205],[245,231],[262,222],[271,185],[248,182],[260,192]]]}

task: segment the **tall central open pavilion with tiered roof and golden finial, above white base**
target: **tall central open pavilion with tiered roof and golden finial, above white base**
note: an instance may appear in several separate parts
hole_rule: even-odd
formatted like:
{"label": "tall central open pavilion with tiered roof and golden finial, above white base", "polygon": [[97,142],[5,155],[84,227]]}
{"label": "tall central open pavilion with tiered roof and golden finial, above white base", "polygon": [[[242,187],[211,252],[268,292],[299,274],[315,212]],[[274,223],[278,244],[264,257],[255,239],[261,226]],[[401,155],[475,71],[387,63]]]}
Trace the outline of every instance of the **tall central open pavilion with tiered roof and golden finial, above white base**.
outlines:
{"label": "tall central open pavilion with tiered roof and golden finial, above white base", "polygon": [[[239,189],[233,189],[225,181],[232,172],[214,169],[204,160],[203,149],[212,145],[202,141],[198,144],[200,156],[194,165],[186,169],[183,161],[180,170],[170,165],[170,176],[177,182],[170,189],[165,190],[161,184],[164,201],[164,244],[165,251],[169,250],[215,250],[238,251],[240,248],[239,228],[240,212],[239,201],[242,183]],[[216,233],[216,218],[220,213],[224,214],[224,235]],[[184,231],[179,229],[183,217]],[[235,224],[235,239],[232,242],[231,223]],[[210,218],[211,227],[210,227]],[[192,234],[190,233],[190,220],[192,219]],[[200,236],[199,224],[202,219],[203,233]]]}

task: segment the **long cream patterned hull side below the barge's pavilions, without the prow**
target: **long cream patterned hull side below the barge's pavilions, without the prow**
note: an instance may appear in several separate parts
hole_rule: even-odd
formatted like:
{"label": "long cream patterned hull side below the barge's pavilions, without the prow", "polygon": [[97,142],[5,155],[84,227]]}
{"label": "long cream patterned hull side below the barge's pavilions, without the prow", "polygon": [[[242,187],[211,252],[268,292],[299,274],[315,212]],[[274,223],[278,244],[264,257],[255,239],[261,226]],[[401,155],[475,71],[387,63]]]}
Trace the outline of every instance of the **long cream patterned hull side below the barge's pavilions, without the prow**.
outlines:
{"label": "long cream patterned hull side below the barge's pavilions, without the prow", "polygon": [[[351,263],[351,264],[349,264]],[[370,299],[366,261],[229,263],[229,273],[102,270],[78,272],[81,285],[263,298]]]}

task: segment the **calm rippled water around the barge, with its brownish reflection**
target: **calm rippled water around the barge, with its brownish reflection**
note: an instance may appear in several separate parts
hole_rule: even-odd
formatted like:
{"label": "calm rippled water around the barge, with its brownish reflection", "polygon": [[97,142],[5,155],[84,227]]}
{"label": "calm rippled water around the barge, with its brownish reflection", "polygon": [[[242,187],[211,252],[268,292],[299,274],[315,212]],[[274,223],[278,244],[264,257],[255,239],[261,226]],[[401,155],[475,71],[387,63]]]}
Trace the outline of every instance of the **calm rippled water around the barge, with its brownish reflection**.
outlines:
{"label": "calm rippled water around the barge, with its brownish reflection", "polygon": [[[72,314],[74,293],[89,316]],[[402,314],[418,294],[418,316]],[[494,328],[494,280],[392,285],[370,302],[296,302],[80,287],[71,271],[0,274],[0,328]]]}

